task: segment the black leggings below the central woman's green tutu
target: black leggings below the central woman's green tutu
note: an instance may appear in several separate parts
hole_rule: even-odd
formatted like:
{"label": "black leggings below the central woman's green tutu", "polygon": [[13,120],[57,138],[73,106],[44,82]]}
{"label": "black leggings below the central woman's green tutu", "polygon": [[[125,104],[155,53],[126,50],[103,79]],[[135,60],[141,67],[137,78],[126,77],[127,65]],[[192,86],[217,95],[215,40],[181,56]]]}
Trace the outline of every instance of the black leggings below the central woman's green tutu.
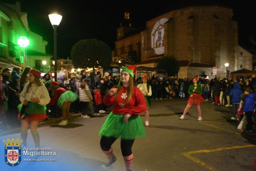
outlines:
{"label": "black leggings below the central woman's green tutu", "polygon": [[[108,151],[111,147],[111,145],[117,140],[115,137],[104,137],[102,136],[100,140],[100,147],[103,151]],[[133,147],[133,140],[121,140],[121,150],[123,156],[130,156],[132,152]]]}

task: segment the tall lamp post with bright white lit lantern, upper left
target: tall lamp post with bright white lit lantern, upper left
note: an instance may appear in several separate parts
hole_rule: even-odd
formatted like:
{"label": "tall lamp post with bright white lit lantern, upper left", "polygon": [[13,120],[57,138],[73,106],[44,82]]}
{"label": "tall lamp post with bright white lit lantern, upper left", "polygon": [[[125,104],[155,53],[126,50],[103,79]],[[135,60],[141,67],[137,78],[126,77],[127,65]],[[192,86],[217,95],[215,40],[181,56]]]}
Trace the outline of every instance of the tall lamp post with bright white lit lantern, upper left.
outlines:
{"label": "tall lamp post with bright white lit lantern, upper left", "polygon": [[54,80],[57,80],[57,27],[59,26],[60,21],[62,21],[62,15],[59,14],[49,14],[49,19],[51,21],[52,27],[54,29]]}

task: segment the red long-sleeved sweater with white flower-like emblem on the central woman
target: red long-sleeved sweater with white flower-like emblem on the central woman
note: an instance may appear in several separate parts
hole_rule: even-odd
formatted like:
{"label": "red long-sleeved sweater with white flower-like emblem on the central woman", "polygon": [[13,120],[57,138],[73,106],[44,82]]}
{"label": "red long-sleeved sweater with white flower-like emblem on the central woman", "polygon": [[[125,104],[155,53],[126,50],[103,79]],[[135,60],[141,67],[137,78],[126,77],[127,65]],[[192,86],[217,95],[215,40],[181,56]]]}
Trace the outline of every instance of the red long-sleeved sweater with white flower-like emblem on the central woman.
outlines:
{"label": "red long-sleeved sweater with white flower-like emblem on the central woman", "polygon": [[127,88],[123,87],[115,101],[115,95],[105,95],[103,102],[106,106],[111,106],[113,104],[112,112],[115,114],[125,115],[126,113],[129,113],[130,115],[139,115],[146,110],[147,104],[145,97],[136,86],[133,87],[131,100],[127,104],[123,105],[126,101],[127,95]]}

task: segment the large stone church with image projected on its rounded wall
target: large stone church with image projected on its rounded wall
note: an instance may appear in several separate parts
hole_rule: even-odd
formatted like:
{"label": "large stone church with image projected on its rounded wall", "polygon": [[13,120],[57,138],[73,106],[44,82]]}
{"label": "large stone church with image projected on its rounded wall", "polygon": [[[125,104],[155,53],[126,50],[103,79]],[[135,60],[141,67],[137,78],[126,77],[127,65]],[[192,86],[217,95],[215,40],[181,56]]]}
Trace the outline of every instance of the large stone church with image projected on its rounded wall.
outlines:
{"label": "large stone church with image projected on its rounded wall", "polygon": [[[193,6],[173,10],[146,22],[145,30],[131,27],[130,18],[117,29],[113,56],[135,51],[136,66],[156,67],[163,56],[174,55],[180,63],[178,78],[226,76],[228,70],[252,70],[252,54],[238,45],[237,22],[233,11],[221,6]],[[128,15],[128,17],[130,17]]]}

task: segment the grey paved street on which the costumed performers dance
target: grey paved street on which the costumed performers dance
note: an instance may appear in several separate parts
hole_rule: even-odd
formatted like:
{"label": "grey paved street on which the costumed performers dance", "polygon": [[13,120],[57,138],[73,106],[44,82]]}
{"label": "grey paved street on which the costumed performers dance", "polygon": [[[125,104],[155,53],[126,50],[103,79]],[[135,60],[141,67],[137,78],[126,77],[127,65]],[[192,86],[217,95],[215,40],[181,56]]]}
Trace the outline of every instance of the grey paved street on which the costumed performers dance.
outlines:
{"label": "grey paved street on which the costumed performers dance", "polygon": [[[253,133],[237,130],[237,121],[230,119],[231,107],[215,106],[211,102],[201,105],[203,121],[197,121],[197,110],[192,106],[184,120],[179,117],[186,106],[185,99],[152,101],[149,109],[150,126],[145,127],[147,137],[136,139],[133,144],[133,171],[253,171],[256,157],[256,128]],[[101,171],[107,157],[99,146],[99,129],[108,115],[94,118],[73,117],[69,124],[55,122],[40,124],[41,146],[56,152],[56,162],[25,162],[6,170],[74,170]],[[141,115],[145,120],[144,114]],[[50,125],[47,125],[50,124]],[[18,129],[7,138],[19,138]],[[1,143],[0,151],[4,144]],[[28,146],[34,141],[28,133]],[[124,171],[120,140],[113,145],[117,161],[107,170]],[[2,152],[1,152],[2,153]],[[43,158],[40,156],[39,158]],[[40,166],[40,167],[38,167]]]}

